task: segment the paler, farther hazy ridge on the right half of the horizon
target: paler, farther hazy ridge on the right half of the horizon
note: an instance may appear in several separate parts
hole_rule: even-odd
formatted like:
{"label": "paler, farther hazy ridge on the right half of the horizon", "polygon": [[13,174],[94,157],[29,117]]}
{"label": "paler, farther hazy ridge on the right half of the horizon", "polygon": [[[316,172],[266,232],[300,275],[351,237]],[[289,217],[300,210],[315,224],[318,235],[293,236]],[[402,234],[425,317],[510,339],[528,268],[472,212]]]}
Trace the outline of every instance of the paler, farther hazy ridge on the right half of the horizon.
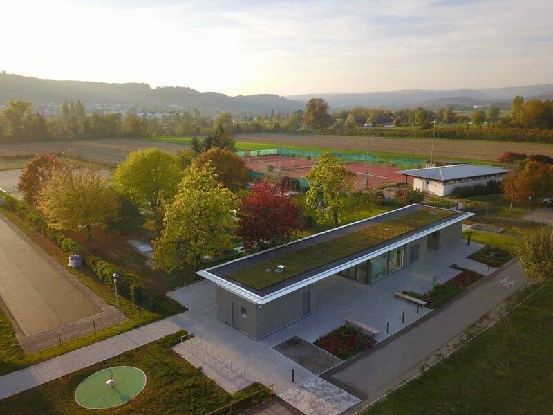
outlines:
{"label": "paler, farther hazy ridge on the right half of the horizon", "polygon": [[485,105],[492,102],[510,102],[515,95],[525,98],[547,99],[553,95],[553,84],[509,86],[507,88],[487,89],[403,89],[400,91],[366,93],[319,93],[306,95],[288,95],[286,98],[307,102],[310,98],[323,98],[332,109],[350,107],[443,107],[444,105]]}

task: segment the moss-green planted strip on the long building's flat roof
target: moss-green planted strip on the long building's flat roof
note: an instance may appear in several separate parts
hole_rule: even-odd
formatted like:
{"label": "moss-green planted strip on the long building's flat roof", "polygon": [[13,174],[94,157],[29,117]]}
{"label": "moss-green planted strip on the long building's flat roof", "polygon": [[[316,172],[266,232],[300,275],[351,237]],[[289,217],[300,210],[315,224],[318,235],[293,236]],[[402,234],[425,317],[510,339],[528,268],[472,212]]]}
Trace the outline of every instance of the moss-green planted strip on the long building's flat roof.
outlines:
{"label": "moss-green planted strip on the long building's flat roof", "polygon": [[[312,268],[317,268],[336,259],[371,248],[371,246],[375,246],[378,243],[406,234],[453,214],[455,212],[423,208],[404,216],[398,216],[388,221],[377,223],[363,230],[234,271],[234,273],[229,273],[229,277],[246,286],[261,290]],[[285,268],[282,272],[276,273],[274,270],[279,264],[285,265]],[[267,271],[268,269],[270,271]]]}

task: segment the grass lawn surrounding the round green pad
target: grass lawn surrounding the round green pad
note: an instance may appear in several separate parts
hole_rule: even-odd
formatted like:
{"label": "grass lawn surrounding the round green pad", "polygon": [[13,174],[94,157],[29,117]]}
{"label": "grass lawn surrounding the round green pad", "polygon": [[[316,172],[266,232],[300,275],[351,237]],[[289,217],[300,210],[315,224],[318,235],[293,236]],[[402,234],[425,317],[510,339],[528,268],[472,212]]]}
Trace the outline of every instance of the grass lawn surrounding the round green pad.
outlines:
{"label": "grass lawn surrounding the round green pad", "polygon": [[[106,367],[129,365],[144,371],[147,384],[131,403],[109,409],[109,414],[204,415],[235,398],[262,388],[256,384],[235,396],[228,394],[171,350],[184,332],[162,338],[97,365],[52,380],[1,401],[4,414],[90,414],[75,403],[75,388],[87,376]],[[268,393],[265,393],[265,398]],[[261,396],[260,396],[261,398]],[[249,404],[247,402],[246,404]],[[241,410],[246,409],[241,407]]]}

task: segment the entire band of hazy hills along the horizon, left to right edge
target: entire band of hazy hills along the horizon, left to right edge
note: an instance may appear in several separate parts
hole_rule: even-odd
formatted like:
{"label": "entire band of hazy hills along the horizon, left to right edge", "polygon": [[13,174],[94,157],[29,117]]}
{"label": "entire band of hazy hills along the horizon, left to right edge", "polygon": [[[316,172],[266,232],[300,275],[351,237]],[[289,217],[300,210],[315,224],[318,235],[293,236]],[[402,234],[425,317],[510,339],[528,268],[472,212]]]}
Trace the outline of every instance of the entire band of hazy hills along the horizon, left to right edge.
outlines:
{"label": "entire band of hazy hills along the horizon, left to right edge", "polygon": [[383,107],[401,109],[410,107],[444,107],[459,105],[471,107],[493,102],[506,104],[515,95],[525,98],[553,98],[553,84],[510,86],[488,89],[404,89],[399,91],[367,93],[316,93],[281,97],[272,94],[229,96],[216,92],[199,92],[182,86],[149,84],[108,84],[105,82],[57,81],[0,73],[0,104],[24,99],[35,104],[61,104],[64,100],[82,100],[88,107],[97,104],[117,108],[145,107],[147,109],[182,110],[193,107],[208,111],[233,113],[292,112],[303,109],[310,98],[323,98],[332,110],[351,107]]}

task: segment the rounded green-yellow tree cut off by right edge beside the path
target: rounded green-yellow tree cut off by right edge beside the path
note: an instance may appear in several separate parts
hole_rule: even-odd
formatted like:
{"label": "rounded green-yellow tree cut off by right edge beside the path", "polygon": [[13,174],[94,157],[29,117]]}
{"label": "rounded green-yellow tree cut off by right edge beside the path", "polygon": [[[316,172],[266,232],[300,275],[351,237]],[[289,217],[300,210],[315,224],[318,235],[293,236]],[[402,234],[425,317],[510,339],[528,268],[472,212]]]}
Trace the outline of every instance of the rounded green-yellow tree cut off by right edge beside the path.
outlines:
{"label": "rounded green-yellow tree cut off by right edge beside the path", "polygon": [[553,277],[553,234],[543,227],[528,232],[518,241],[516,255],[529,279],[541,281]]}

